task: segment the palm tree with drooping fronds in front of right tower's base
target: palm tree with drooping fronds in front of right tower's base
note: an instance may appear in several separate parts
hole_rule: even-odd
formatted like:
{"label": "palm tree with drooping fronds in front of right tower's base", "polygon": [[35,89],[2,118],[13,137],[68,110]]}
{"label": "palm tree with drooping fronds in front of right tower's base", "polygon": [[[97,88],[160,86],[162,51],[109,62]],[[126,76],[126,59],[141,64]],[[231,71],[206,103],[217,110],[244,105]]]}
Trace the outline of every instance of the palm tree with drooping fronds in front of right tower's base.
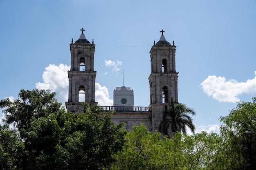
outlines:
{"label": "palm tree with drooping fronds in front of right tower's base", "polygon": [[170,130],[171,132],[178,131],[186,134],[186,126],[188,126],[189,129],[195,133],[195,125],[189,114],[194,116],[195,110],[187,107],[185,104],[174,105],[172,97],[171,109],[168,110],[167,106],[164,106],[163,118],[159,125],[159,131],[171,138],[169,134]]}

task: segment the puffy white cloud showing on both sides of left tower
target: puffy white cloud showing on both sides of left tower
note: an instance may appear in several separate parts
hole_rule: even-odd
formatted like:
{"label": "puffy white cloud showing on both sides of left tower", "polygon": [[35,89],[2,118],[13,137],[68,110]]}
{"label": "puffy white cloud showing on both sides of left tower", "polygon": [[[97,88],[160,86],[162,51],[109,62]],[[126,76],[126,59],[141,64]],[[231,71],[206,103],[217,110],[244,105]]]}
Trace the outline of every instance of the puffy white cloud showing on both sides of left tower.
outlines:
{"label": "puffy white cloud showing on both sides of left tower", "polygon": [[[43,83],[36,83],[36,88],[49,89],[56,92],[56,99],[65,106],[68,100],[68,75],[70,66],[49,64],[43,73]],[[113,100],[109,98],[108,88],[95,83],[95,101],[101,106],[112,106]]]}

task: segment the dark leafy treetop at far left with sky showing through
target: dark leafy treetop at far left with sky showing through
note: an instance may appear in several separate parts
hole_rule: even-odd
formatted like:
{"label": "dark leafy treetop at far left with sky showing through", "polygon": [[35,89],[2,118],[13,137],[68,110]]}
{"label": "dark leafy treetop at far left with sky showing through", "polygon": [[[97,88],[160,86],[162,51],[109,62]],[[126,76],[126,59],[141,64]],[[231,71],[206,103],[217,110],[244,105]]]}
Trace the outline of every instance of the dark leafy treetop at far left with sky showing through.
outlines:
{"label": "dark leafy treetop at far left with sky showing through", "polygon": [[[21,132],[29,128],[31,118],[38,119],[39,117],[47,117],[50,113],[54,113],[61,108],[61,103],[58,103],[55,98],[55,93],[49,90],[32,91],[20,90],[18,99],[11,102],[8,98],[0,101],[0,108],[5,113],[4,121],[7,124],[14,123],[15,127]],[[23,133],[21,137],[24,138]]]}

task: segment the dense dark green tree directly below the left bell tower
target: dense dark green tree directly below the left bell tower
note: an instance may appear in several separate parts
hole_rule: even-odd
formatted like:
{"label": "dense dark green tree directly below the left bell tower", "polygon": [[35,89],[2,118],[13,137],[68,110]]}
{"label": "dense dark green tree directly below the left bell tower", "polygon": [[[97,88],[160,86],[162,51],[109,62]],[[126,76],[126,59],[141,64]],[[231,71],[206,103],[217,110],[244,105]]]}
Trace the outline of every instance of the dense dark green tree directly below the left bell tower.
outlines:
{"label": "dense dark green tree directly below the left bell tower", "polygon": [[124,124],[115,125],[111,113],[99,117],[92,111],[73,114],[59,110],[32,118],[26,146],[31,170],[101,170],[115,162],[122,149]]}

